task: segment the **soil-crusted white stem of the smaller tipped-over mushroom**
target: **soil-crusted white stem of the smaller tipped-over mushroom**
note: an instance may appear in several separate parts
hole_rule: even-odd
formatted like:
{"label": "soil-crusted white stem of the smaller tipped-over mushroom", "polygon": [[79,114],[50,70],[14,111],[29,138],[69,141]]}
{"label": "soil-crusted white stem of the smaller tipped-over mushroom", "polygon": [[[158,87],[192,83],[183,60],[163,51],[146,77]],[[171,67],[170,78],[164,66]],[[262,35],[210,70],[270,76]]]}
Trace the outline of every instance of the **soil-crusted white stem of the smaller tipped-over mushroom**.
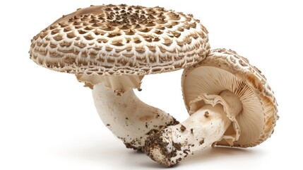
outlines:
{"label": "soil-crusted white stem of the smaller tipped-over mushroom", "polygon": [[[189,154],[204,149],[222,140],[232,121],[227,118],[226,108],[236,116],[242,111],[242,103],[232,92],[225,90],[214,101],[225,102],[206,104],[183,123],[172,125],[148,137],[145,153],[164,166],[173,166]],[[223,106],[222,103],[228,106]]]}

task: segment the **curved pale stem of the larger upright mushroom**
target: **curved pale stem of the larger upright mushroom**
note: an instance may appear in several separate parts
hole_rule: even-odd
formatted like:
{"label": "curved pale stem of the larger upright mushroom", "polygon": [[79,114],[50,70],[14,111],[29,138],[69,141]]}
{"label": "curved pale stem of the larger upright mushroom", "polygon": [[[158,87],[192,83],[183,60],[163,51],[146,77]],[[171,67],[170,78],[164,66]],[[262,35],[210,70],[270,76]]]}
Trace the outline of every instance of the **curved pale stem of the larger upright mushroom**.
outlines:
{"label": "curved pale stem of the larger upright mushroom", "polygon": [[143,103],[133,89],[117,95],[103,83],[95,84],[93,99],[103,123],[127,148],[141,149],[149,135],[178,123],[165,111]]}

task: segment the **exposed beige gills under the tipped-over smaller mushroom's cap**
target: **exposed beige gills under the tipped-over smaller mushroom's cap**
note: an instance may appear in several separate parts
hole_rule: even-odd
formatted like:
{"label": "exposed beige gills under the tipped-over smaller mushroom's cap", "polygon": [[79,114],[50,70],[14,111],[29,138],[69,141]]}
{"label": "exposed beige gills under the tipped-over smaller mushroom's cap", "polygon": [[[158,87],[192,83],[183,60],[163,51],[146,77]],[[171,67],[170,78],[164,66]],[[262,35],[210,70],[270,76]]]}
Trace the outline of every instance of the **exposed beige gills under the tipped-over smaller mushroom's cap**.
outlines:
{"label": "exposed beige gills under the tipped-over smaller mushroom's cap", "polygon": [[189,114],[194,113],[205,104],[203,100],[197,101],[198,96],[203,94],[218,95],[222,91],[228,90],[241,101],[242,114],[234,116],[232,113],[226,113],[227,117],[232,120],[232,125],[227,129],[224,137],[225,139],[233,137],[235,140],[232,144],[231,140],[220,140],[218,141],[220,145],[241,147],[253,143],[258,140],[265,126],[265,116],[259,94],[242,81],[241,77],[244,75],[237,76],[225,69],[202,66],[189,72],[183,85],[184,94],[187,94],[184,98],[188,103],[186,107],[188,107]]}

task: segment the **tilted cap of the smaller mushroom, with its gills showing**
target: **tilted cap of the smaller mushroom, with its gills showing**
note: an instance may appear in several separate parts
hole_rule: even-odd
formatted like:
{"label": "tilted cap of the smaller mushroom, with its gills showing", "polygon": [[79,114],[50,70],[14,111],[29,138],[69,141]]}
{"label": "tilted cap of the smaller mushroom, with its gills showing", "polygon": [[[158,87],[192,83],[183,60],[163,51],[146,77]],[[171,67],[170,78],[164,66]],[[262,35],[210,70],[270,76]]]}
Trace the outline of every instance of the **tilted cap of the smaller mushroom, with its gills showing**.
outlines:
{"label": "tilted cap of the smaller mushroom, with its gills showing", "polygon": [[[266,78],[249,60],[232,50],[212,50],[205,60],[184,69],[182,92],[186,109],[192,113],[191,103],[201,94],[218,95],[221,91],[234,92],[242,103],[242,112],[232,118],[232,124],[216,145],[254,147],[273,133],[278,110],[275,97]],[[205,104],[205,103],[204,103]]]}

